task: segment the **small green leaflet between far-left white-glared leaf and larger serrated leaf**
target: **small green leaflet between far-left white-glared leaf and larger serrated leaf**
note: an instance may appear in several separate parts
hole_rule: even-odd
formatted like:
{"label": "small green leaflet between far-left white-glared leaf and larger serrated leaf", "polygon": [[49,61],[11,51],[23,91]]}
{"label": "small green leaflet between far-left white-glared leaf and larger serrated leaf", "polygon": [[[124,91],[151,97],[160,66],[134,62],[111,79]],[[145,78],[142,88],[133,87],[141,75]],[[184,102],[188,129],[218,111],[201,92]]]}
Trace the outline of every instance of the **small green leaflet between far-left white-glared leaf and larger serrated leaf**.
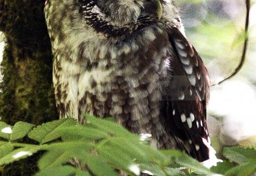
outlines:
{"label": "small green leaflet between far-left white-glared leaf and larger serrated leaf", "polygon": [[32,127],[32,124],[26,122],[17,122],[12,128],[10,141],[23,138],[31,131]]}

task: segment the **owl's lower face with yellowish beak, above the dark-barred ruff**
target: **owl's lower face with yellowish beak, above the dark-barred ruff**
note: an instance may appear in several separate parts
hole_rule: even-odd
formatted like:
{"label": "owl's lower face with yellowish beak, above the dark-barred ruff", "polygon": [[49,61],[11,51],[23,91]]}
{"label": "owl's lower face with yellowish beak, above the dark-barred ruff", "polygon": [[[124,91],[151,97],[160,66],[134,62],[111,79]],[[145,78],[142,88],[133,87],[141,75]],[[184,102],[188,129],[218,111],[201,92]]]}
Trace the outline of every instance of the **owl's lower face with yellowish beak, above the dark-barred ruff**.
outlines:
{"label": "owl's lower face with yellowish beak, above the dark-barred ruff", "polygon": [[161,18],[162,15],[160,0],[96,0],[96,4],[116,26],[136,22],[141,16]]}

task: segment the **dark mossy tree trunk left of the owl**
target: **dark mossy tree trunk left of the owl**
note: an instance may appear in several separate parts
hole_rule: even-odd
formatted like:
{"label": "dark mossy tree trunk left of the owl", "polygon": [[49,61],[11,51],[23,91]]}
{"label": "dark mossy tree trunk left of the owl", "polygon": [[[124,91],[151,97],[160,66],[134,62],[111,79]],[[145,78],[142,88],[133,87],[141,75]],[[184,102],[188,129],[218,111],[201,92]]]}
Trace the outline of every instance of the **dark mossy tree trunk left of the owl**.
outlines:
{"label": "dark mossy tree trunk left of the owl", "polygon": [[[58,119],[52,88],[52,52],[43,14],[45,0],[0,0],[5,48],[0,70],[1,121],[34,125]],[[30,176],[39,154],[1,166],[2,176]]]}

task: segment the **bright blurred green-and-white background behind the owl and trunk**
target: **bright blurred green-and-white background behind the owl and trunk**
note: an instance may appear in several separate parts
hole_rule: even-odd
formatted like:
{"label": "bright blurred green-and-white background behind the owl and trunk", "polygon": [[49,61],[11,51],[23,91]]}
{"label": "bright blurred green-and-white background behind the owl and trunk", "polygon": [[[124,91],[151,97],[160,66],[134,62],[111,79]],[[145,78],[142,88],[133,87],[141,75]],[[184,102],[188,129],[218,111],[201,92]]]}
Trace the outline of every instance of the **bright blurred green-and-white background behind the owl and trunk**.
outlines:
{"label": "bright blurred green-and-white background behind the owl and trunk", "polygon": [[[211,81],[231,72],[242,55],[245,0],[176,0],[176,4],[187,38],[206,64]],[[1,61],[2,34],[0,38]],[[256,146],[256,0],[251,0],[246,54],[237,75],[211,87],[208,127],[219,156],[224,146]]]}

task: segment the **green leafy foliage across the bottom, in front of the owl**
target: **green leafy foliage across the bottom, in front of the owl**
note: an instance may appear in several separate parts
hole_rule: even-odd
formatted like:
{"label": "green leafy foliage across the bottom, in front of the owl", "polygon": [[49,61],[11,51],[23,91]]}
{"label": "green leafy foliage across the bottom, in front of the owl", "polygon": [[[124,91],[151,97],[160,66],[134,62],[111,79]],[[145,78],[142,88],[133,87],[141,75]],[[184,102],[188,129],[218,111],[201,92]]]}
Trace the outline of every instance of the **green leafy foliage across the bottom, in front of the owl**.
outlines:
{"label": "green leafy foliage across the bottom, in front of the owl", "polygon": [[[119,171],[130,176],[140,173],[249,176],[256,173],[254,148],[225,148],[224,155],[229,161],[209,170],[184,152],[158,151],[146,145],[138,135],[114,122],[90,115],[86,115],[86,119],[85,125],[68,118],[37,127],[24,122],[14,126],[0,122],[3,139],[0,141],[0,165],[46,151],[38,161],[40,171],[36,176],[118,176]],[[15,143],[25,136],[37,144]]]}

